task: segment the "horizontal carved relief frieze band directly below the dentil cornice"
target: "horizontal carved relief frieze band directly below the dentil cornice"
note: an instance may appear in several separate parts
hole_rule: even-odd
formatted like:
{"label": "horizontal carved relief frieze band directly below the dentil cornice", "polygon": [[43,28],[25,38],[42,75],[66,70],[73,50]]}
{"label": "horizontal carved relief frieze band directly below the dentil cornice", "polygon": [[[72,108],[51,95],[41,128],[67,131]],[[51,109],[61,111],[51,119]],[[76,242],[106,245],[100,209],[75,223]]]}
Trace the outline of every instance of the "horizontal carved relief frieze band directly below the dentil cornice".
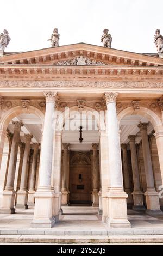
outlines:
{"label": "horizontal carved relief frieze band directly below the dentil cornice", "polygon": [[0,81],[0,87],[90,87],[90,88],[163,88],[163,82],[122,81]]}

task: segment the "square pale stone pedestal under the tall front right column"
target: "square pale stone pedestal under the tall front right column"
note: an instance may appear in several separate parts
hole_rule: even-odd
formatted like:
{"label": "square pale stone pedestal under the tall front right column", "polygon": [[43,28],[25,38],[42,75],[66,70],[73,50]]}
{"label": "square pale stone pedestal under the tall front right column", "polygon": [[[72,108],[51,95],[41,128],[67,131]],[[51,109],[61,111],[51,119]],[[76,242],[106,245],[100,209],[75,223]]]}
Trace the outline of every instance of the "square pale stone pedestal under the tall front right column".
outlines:
{"label": "square pale stone pedestal under the tall front right column", "polygon": [[127,219],[127,194],[122,190],[111,189],[108,192],[108,218],[106,224],[109,228],[130,228]]}

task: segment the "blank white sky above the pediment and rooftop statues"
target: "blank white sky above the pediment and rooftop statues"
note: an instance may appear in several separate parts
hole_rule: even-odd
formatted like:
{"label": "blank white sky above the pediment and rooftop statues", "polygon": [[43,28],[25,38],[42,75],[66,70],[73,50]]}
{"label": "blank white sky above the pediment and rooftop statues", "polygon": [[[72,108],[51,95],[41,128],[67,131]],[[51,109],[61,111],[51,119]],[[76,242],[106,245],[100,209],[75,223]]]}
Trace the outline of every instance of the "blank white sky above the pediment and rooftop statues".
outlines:
{"label": "blank white sky above the pediment and rooftop statues", "polygon": [[156,53],[155,30],[163,35],[162,0],[5,0],[0,6],[0,32],[7,29],[11,38],[6,51],[50,47],[54,27],[59,45],[102,46],[108,28],[112,48],[140,53]]}

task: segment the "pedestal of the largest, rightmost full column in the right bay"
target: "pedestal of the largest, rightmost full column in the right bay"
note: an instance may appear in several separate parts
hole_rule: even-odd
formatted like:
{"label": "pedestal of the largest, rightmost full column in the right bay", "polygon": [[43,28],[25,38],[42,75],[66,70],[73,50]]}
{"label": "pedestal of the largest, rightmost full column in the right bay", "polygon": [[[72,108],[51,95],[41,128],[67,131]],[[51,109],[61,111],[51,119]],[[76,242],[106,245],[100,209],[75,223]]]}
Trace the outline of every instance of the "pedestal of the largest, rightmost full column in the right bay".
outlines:
{"label": "pedestal of the largest, rightmost full column in the right bay", "polygon": [[158,192],[156,192],[155,188],[147,188],[145,192],[147,210],[158,211],[160,210],[160,202]]}

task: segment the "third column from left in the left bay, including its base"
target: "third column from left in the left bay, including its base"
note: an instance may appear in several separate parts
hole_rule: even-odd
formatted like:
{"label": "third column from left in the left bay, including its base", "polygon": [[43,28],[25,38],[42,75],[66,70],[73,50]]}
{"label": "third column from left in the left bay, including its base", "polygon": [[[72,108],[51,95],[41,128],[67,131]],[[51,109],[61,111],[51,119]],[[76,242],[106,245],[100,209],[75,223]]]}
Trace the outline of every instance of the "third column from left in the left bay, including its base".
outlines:
{"label": "third column from left in the left bay, including its base", "polygon": [[39,143],[33,143],[33,158],[32,158],[32,170],[30,175],[30,182],[29,182],[29,191],[28,191],[28,207],[30,209],[34,209],[35,205],[35,185],[36,185],[36,172],[37,172],[37,157],[39,152]]}

